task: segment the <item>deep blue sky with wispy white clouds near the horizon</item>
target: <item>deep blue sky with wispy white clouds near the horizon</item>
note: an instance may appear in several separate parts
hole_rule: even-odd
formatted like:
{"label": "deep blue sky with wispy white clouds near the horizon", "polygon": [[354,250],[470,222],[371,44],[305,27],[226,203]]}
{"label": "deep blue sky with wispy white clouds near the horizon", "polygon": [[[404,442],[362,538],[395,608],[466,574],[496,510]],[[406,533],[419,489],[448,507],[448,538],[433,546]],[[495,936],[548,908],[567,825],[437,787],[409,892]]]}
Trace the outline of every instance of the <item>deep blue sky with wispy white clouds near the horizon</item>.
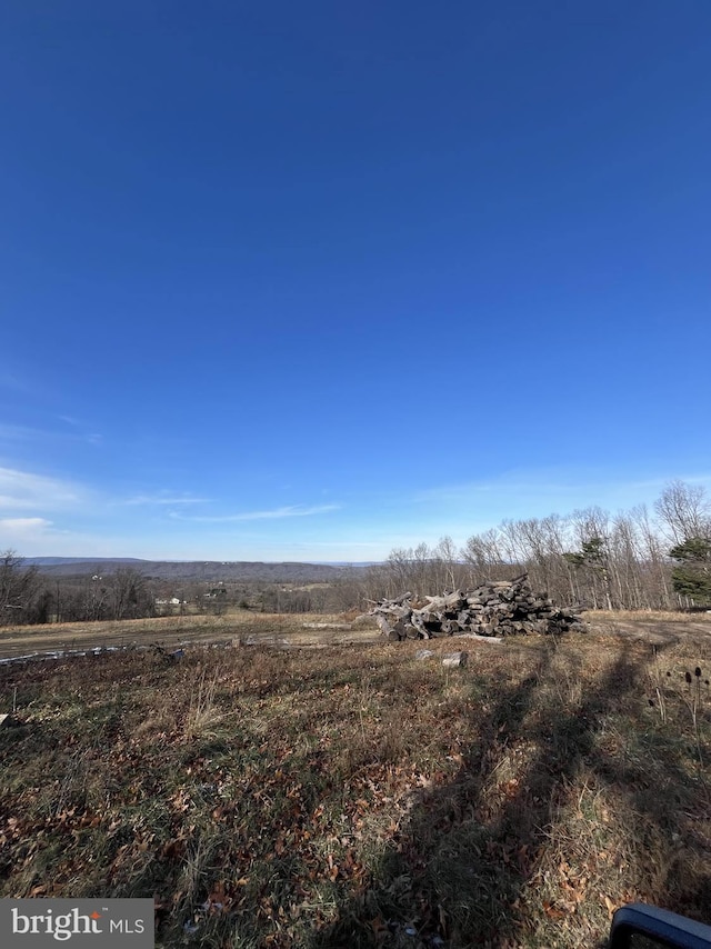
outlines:
{"label": "deep blue sky with wispy white clouds near the horizon", "polygon": [[711,486],[711,3],[6,0],[0,549]]}

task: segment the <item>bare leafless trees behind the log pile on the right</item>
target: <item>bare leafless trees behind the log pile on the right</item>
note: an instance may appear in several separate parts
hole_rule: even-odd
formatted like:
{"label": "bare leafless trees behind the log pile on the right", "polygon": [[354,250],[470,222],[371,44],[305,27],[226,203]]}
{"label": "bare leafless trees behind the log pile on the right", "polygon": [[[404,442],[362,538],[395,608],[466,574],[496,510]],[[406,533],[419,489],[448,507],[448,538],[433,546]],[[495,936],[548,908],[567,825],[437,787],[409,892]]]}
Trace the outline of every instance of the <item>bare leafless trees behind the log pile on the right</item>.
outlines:
{"label": "bare leafless trees behind the log pile on the right", "polygon": [[534,588],[568,606],[669,610],[711,606],[711,505],[705,490],[669,485],[644,506],[611,516],[600,508],[504,520],[457,549],[395,549],[369,572],[371,599],[415,597],[510,579],[528,571]]}

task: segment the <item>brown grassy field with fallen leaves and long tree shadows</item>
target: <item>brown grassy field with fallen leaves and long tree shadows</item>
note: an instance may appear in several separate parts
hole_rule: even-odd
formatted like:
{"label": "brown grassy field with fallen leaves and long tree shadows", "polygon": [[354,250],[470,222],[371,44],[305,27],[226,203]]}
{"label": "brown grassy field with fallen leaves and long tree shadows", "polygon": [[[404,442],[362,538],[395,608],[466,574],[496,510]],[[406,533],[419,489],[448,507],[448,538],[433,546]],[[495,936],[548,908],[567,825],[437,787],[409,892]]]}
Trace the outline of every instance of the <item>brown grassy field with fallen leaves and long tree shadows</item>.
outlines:
{"label": "brown grassy field with fallen leaves and long tree shadows", "polygon": [[163,947],[600,946],[634,899],[711,922],[711,622],[588,618],[423,661],[323,617],[3,630],[187,648],[0,668],[0,896],[152,896]]}

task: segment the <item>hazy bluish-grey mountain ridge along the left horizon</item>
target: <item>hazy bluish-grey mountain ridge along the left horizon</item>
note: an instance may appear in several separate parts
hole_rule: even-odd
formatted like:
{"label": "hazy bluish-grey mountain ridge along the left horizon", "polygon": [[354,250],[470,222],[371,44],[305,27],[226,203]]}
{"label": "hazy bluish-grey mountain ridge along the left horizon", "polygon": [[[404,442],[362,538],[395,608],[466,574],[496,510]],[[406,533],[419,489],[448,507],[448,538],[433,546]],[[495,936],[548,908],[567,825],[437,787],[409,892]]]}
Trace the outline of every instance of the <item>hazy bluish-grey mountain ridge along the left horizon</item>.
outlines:
{"label": "hazy bluish-grey mountain ridge along the left horizon", "polygon": [[[349,572],[351,565],[222,561],[222,560],[141,560],[137,557],[26,557],[46,576],[78,577],[87,573],[113,573],[132,567],[158,580],[251,580],[272,583],[328,583]],[[359,569],[360,565],[353,565]],[[362,569],[362,568],[360,568]]]}

